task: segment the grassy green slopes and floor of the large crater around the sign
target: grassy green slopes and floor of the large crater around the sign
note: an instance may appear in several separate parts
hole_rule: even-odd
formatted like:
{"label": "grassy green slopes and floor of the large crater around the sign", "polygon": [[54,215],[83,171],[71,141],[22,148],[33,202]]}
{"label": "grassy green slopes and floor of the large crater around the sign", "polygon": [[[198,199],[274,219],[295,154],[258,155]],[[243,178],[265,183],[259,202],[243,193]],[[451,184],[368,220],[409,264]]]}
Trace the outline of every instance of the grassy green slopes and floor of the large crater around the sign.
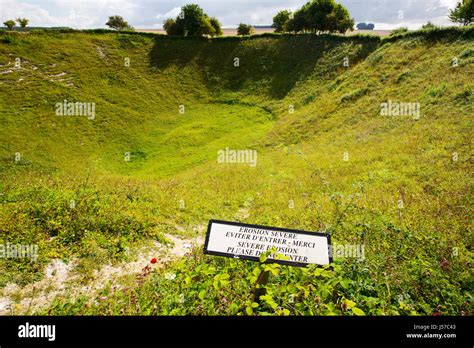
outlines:
{"label": "grassy green slopes and floor of the large crater around the sign", "polygon": [[[473,27],[0,32],[0,243],[39,248],[0,259],[0,313],[472,315],[473,75]],[[64,100],[95,113],[58,116]],[[388,102],[419,113],[384,116]],[[218,163],[227,147],[258,164]],[[200,240],[209,219],[326,231],[365,258],[143,256]],[[131,263],[147,267],[104,276]]]}

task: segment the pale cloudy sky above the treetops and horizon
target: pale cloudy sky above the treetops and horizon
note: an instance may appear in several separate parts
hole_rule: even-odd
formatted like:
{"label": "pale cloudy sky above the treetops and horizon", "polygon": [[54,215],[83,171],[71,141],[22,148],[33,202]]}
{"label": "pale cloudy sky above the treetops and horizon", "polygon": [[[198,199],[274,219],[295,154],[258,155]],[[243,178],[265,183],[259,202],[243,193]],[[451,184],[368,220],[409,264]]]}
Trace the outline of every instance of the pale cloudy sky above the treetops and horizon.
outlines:
{"label": "pale cloudy sky above the treetops and horizon", "polygon": [[[417,29],[428,21],[450,25],[449,9],[459,0],[336,0],[358,22],[375,29]],[[307,0],[0,0],[0,22],[26,17],[33,27],[105,28],[108,16],[120,15],[137,29],[162,28],[180,7],[197,3],[223,27],[239,23],[270,25],[280,10],[296,10]]]}

